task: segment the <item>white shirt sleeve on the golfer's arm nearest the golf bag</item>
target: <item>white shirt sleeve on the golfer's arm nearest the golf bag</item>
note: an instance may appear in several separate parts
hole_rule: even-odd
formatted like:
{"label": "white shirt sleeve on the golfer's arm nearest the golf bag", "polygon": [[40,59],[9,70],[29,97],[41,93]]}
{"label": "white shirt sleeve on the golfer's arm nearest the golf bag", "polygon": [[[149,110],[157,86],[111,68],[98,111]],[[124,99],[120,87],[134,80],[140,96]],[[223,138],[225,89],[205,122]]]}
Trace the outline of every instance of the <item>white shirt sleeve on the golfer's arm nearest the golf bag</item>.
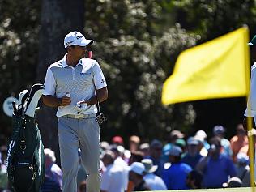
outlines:
{"label": "white shirt sleeve on the golfer's arm nearest the golf bag", "polygon": [[56,87],[56,82],[53,76],[52,70],[48,67],[48,70],[45,75],[45,87],[44,87],[44,96],[54,96],[55,94],[55,87]]}

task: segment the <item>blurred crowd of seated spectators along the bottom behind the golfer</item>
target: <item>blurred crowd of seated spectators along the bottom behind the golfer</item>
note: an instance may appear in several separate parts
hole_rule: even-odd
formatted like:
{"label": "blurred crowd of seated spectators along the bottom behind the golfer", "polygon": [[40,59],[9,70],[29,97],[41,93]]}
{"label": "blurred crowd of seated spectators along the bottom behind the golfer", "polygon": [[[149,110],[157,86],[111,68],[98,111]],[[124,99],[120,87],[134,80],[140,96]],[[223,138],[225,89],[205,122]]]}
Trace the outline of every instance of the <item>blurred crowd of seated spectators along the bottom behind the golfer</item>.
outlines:
{"label": "blurred crowd of seated spectators along the bottom behind the golfer", "polygon": [[[250,134],[256,139],[256,130]],[[169,142],[158,139],[143,143],[132,135],[125,147],[121,136],[102,141],[101,192],[143,190],[186,190],[250,186],[249,144],[246,131],[237,125],[237,134],[225,139],[224,126],[214,126],[211,138],[203,130],[185,135],[169,134]],[[1,156],[2,155],[2,156]],[[5,169],[6,151],[0,153],[0,191],[11,191]],[[80,153],[78,151],[78,156]],[[62,191],[62,169],[54,151],[45,148],[45,182],[42,192]],[[79,160],[78,191],[86,191],[86,170]],[[9,190],[7,190],[9,188]]]}

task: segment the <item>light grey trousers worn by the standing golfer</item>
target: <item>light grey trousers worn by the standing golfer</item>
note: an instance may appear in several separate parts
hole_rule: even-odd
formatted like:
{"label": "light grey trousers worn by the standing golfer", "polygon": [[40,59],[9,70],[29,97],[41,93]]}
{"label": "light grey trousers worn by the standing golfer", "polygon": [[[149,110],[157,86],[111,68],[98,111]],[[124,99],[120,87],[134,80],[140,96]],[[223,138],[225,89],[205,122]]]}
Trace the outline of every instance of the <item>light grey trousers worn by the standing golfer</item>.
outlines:
{"label": "light grey trousers worn by the standing golfer", "polygon": [[78,147],[88,174],[87,191],[100,192],[100,127],[95,117],[58,118],[58,140],[63,172],[63,192],[77,191]]}

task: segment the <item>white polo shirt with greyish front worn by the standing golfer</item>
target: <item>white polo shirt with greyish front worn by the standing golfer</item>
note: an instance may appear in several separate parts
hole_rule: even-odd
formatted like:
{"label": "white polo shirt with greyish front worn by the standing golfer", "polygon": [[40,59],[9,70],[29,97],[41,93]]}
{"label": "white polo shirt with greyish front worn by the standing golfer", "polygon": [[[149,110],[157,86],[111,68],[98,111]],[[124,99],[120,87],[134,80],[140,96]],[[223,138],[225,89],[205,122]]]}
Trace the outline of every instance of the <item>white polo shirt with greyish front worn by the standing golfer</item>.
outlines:
{"label": "white polo shirt with greyish front worn by the standing golfer", "polygon": [[73,67],[66,64],[66,55],[62,60],[51,64],[45,76],[43,95],[62,98],[67,92],[71,95],[71,104],[58,107],[57,117],[67,114],[96,113],[96,105],[88,105],[87,109],[79,112],[75,105],[80,100],[89,100],[95,95],[96,89],[107,87],[105,77],[96,60],[82,58]]}

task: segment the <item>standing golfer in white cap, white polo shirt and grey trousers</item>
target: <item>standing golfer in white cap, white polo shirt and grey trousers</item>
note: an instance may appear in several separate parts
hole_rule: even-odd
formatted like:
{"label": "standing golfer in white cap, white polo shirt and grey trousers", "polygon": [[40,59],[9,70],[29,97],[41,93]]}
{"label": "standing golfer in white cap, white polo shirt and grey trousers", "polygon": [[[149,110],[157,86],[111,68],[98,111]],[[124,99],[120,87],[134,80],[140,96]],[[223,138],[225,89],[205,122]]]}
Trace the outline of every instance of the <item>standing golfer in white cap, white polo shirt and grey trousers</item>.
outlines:
{"label": "standing golfer in white cap, white polo shirt and grey trousers", "polygon": [[64,58],[51,64],[45,76],[43,101],[58,107],[58,140],[63,192],[77,190],[78,148],[88,174],[87,191],[100,191],[100,127],[96,104],[108,98],[105,77],[96,60],[84,58],[92,44],[80,32],[65,36]]}

